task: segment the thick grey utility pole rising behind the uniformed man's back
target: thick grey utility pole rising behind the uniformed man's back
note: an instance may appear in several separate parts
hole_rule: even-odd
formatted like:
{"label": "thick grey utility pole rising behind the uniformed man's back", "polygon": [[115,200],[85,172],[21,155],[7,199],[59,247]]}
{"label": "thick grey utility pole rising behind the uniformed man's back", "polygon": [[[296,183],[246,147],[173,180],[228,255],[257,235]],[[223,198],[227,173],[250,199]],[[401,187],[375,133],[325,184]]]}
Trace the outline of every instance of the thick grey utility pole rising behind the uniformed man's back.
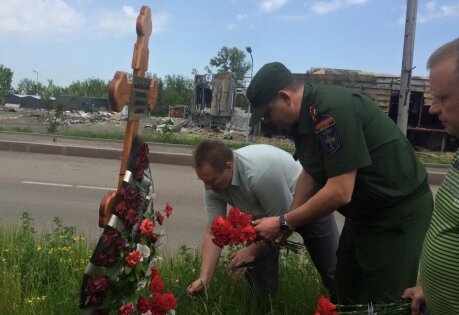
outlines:
{"label": "thick grey utility pole rising behind the uniformed man's back", "polygon": [[408,126],[408,110],[410,108],[410,83],[411,72],[413,70],[413,50],[417,7],[418,0],[407,0],[402,73],[400,77],[400,94],[397,113],[397,126],[404,135],[406,135],[406,129]]}

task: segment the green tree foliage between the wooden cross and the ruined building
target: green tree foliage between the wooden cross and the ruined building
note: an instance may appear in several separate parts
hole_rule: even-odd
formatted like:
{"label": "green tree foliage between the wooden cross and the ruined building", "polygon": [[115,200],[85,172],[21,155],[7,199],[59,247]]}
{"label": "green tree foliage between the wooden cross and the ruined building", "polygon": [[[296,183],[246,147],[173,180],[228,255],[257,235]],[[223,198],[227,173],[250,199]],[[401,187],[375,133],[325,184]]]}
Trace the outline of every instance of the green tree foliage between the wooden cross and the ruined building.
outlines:
{"label": "green tree foliage between the wooden cross and the ruined building", "polygon": [[193,99],[193,81],[182,75],[166,75],[158,81],[159,99],[154,114],[165,116],[169,106],[189,105]]}

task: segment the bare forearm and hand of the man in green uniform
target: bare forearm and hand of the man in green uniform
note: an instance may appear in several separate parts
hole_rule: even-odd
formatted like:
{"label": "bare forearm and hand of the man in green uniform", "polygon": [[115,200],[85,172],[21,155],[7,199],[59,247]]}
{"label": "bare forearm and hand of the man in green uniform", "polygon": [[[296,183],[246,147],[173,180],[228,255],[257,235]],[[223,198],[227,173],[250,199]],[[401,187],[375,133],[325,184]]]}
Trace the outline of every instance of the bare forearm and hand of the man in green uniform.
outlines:
{"label": "bare forearm and hand of the man in green uniform", "polygon": [[[324,217],[335,209],[348,204],[354,192],[357,171],[351,171],[329,178],[314,196],[301,206],[285,214],[285,221],[292,227],[298,227]],[[257,234],[267,240],[281,237],[279,218],[269,217],[253,222]]]}

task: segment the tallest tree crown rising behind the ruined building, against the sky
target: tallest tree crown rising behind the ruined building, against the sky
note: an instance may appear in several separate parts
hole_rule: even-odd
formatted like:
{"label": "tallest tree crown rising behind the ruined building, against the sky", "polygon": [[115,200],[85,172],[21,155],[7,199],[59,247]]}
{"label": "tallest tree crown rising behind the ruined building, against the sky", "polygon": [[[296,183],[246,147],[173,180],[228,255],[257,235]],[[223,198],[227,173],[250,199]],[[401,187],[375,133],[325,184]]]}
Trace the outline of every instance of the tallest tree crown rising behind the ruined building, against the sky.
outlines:
{"label": "tallest tree crown rising behind the ruined building, against the sky", "polygon": [[210,66],[216,67],[217,72],[233,72],[238,81],[244,80],[245,74],[250,70],[250,63],[245,60],[244,51],[223,46],[217,57],[210,59]]}

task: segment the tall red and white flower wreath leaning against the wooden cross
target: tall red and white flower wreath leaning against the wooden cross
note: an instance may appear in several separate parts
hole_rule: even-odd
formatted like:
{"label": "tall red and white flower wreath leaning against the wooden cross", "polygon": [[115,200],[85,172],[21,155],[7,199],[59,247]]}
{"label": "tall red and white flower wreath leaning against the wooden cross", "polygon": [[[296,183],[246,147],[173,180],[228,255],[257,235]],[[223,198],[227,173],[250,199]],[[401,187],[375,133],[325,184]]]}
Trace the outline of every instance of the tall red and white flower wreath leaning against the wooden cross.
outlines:
{"label": "tall red and white flower wreath leaning against the wooden cross", "polygon": [[135,141],[112,216],[99,238],[83,277],[82,314],[150,314],[173,312],[176,298],[165,293],[157,253],[162,225],[172,207],[155,211],[148,145]]}

